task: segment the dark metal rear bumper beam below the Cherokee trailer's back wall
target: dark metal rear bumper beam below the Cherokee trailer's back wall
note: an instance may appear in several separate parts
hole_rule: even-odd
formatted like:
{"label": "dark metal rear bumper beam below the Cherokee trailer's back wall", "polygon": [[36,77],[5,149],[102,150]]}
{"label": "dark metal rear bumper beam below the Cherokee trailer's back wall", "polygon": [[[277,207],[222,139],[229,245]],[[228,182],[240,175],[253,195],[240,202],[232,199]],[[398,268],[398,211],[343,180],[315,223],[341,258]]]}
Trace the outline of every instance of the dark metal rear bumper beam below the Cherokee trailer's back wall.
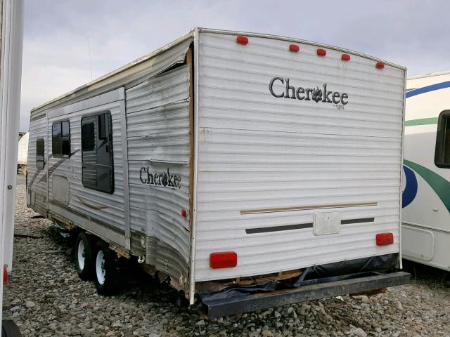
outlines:
{"label": "dark metal rear bumper beam below the Cherokee trailer's back wall", "polygon": [[[236,315],[279,305],[317,300],[348,293],[361,293],[383,289],[390,286],[399,286],[409,283],[410,274],[407,272],[373,273],[370,276],[351,279],[311,280],[309,284],[295,289],[283,289],[266,293],[253,293],[247,296],[234,296],[210,300],[205,303],[209,318]],[[315,282],[316,281],[316,282]]]}

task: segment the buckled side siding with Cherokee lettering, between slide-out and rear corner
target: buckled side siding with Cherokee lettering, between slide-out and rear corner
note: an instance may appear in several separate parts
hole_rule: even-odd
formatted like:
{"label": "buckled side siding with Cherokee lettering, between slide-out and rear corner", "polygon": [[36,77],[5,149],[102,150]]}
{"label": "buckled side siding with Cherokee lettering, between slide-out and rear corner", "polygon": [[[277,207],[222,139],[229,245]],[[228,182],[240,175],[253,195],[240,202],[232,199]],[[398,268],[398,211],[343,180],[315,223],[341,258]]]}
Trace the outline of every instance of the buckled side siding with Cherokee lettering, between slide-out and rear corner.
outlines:
{"label": "buckled side siding with Cherokee lettering, between slide-out and rear corner", "polygon": [[[130,224],[148,235],[147,263],[187,276],[189,217],[189,67],[177,67],[130,88],[127,95]],[[148,185],[146,173],[181,177],[181,188]]]}

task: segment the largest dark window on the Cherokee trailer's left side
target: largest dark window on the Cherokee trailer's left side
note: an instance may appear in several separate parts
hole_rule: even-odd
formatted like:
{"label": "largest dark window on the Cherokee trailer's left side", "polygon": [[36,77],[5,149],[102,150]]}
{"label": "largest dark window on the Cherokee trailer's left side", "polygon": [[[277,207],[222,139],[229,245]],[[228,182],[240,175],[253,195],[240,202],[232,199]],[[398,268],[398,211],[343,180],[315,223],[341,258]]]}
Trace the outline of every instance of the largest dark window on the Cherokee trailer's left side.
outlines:
{"label": "largest dark window on the Cherokee trailer's left side", "polygon": [[114,192],[113,124],[110,112],[82,118],[82,182],[86,188]]}

